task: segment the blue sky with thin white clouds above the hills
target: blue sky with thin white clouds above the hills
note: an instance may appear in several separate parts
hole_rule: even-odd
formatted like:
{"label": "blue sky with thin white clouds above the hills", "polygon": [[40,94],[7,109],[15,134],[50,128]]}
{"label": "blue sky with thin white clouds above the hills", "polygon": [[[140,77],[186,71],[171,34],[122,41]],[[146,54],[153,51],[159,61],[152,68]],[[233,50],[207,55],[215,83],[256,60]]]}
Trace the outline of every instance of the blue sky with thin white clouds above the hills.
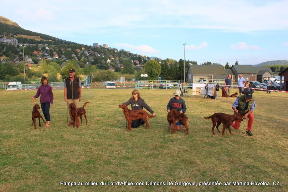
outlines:
{"label": "blue sky with thin white clouds above the hills", "polygon": [[[288,0],[0,0],[0,15],[67,41],[230,65],[288,60]],[[183,45],[186,43],[185,45]]]}

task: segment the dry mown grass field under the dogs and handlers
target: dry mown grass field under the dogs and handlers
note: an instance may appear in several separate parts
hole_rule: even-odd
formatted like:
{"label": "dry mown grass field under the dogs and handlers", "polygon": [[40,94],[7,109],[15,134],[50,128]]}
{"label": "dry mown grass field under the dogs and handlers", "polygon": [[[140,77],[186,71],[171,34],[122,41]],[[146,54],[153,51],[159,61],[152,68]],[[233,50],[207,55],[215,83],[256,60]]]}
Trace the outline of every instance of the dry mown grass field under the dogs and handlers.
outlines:
{"label": "dry mown grass field under the dogs and handlers", "polygon": [[[288,93],[255,91],[254,136],[246,137],[242,135],[247,119],[239,130],[232,130],[234,135],[226,130],[221,136],[212,135],[211,121],[203,118],[215,112],[233,114],[235,99],[199,96],[184,98],[189,134],[167,133],[166,105],[173,90],[155,89],[140,89],[141,97],[157,115],[149,119],[150,129],[140,126],[127,132],[119,128],[125,126],[125,119],[118,104],[126,102],[131,91],[94,89],[94,98],[83,97],[80,103],[90,101],[88,125],[76,129],[66,126],[63,90],[54,89],[51,127],[37,125],[36,130],[30,126],[30,98],[36,90],[1,91],[0,191],[288,190]],[[76,182],[72,183],[76,186],[61,181]],[[90,181],[98,185],[85,185]],[[134,186],[117,185],[118,181],[133,182]],[[160,183],[148,185],[147,181]],[[173,185],[167,186],[167,181]],[[233,181],[250,185],[233,185]],[[164,186],[159,185],[163,182]],[[195,182],[197,186],[175,182]],[[199,182],[222,184],[199,186]],[[224,186],[224,182],[231,184]],[[251,186],[251,182],[270,185]]]}

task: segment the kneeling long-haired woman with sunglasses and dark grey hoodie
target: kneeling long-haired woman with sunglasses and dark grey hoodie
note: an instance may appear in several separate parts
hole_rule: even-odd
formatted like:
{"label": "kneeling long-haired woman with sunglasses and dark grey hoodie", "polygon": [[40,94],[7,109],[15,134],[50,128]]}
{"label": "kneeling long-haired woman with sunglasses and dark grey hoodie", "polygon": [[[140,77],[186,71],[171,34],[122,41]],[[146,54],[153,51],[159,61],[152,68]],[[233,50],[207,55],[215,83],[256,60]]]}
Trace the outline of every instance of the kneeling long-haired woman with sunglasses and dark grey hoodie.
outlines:
{"label": "kneeling long-haired woman with sunglasses and dark grey hoodie", "polygon": [[[145,109],[147,109],[147,111],[149,111],[150,113],[152,113],[152,115],[155,117],[156,114],[154,113],[154,111],[145,103],[144,99],[142,99],[140,97],[140,93],[137,89],[134,89],[132,91],[132,97],[126,101],[125,103],[123,103],[125,105],[130,105],[131,104],[131,109],[132,110],[139,110],[139,109],[143,109],[143,107]],[[136,119],[135,121],[132,121],[131,127],[132,128],[137,128],[140,125],[143,125],[145,122],[142,119]]]}

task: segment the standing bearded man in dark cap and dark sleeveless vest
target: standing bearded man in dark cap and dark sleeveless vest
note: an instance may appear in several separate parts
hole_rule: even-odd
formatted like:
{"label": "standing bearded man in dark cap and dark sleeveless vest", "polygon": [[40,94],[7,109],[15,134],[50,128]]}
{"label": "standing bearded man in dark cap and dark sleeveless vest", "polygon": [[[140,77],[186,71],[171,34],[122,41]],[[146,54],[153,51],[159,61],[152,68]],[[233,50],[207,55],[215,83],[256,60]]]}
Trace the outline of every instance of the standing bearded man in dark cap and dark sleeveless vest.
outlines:
{"label": "standing bearded man in dark cap and dark sleeveless vest", "polygon": [[[76,108],[79,107],[79,102],[81,101],[81,81],[79,77],[75,76],[75,69],[69,69],[69,77],[65,78],[64,81],[64,100],[65,102],[74,103]],[[70,115],[71,119],[71,115]],[[73,121],[68,124],[71,126]]]}

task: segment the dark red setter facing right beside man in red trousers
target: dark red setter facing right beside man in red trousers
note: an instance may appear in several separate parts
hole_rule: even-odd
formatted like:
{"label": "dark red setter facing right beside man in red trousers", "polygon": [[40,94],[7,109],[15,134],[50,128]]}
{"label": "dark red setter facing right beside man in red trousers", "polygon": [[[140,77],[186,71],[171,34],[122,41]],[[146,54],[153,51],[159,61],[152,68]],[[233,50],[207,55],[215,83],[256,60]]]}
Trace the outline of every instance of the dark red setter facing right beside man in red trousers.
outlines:
{"label": "dark red setter facing right beside man in red trousers", "polygon": [[232,132],[231,132],[231,127],[230,125],[237,119],[239,121],[243,121],[243,115],[239,114],[239,113],[235,113],[233,115],[229,115],[229,114],[225,114],[225,113],[214,113],[213,115],[209,116],[209,117],[204,117],[205,119],[210,119],[211,118],[211,121],[212,121],[212,124],[213,124],[213,127],[212,127],[212,133],[213,135],[215,135],[214,133],[214,127],[216,125],[216,128],[218,130],[218,133],[220,133],[218,127],[219,125],[222,123],[223,124],[223,129],[222,129],[222,135],[224,135],[224,131],[225,131],[225,128],[228,127],[229,129],[229,133],[231,135]]}

